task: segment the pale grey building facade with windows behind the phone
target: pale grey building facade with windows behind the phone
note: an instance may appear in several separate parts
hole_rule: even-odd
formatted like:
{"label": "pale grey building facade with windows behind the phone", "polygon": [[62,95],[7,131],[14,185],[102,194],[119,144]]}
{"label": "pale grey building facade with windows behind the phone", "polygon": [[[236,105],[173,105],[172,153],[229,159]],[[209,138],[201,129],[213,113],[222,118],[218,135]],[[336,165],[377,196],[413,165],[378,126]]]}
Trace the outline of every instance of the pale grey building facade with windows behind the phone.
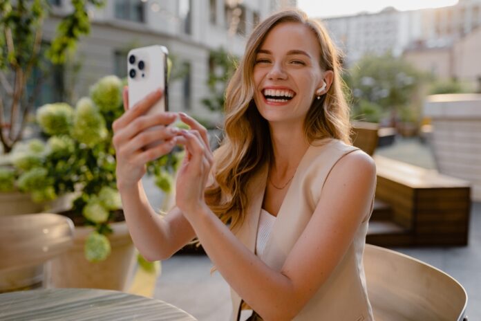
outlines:
{"label": "pale grey building facade with windows behind the phone", "polygon": [[[53,15],[45,21],[44,38],[55,35],[59,17],[70,10],[68,0],[50,1]],[[93,82],[104,75],[126,76],[126,53],[131,48],[161,44],[182,69],[182,76],[169,82],[169,108],[209,117],[201,100],[209,95],[209,52],[225,48],[241,56],[246,35],[272,12],[296,1],[286,0],[112,0],[102,9],[90,8],[91,33],[77,44],[73,62],[64,78],[75,93],[73,101],[88,94]],[[68,86],[62,84],[62,86]]]}

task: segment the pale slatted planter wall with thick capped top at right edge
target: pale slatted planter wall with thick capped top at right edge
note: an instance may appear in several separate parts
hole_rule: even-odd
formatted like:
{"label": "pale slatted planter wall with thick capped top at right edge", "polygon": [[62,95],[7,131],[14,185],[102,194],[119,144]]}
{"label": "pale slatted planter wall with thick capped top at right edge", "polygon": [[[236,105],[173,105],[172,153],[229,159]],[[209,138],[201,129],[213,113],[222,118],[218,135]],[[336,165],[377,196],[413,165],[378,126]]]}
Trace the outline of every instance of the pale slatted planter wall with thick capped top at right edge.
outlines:
{"label": "pale slatted planter wall with thick capped top at right edge", "polygon": [[471,183],[471,199],[481,201],[481,95],[428,96],[424,115],[437,169]]}

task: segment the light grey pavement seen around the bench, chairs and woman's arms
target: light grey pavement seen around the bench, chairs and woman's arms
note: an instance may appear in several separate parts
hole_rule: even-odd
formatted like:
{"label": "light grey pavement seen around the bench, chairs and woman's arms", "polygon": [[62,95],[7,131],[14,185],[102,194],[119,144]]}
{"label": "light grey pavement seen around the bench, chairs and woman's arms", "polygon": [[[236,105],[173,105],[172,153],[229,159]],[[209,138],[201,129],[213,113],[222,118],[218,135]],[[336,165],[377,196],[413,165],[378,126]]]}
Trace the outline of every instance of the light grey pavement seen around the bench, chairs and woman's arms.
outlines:
{"label": "light grey pavement seen around the bench, chairs and woman's arms", "polygon": [[[431,150],[417,138],[399,138],[394,145],[378,148],[376,154],[436,168]],[[160,193],[148,178],[144,179],[144,186],[149,201],[158,208],[162,201]],[[481,203],[473,203],[471,207],[468,246],[393,250],[440,268],[457,279],[468,293],[466,315],[469,320],[481,320]],[[178,306],[199,321],[229,320],[232,312],[229,286],[220,273],[210,273],[211,267],[205,255],[173,255],[162,262],[154,297]]]}

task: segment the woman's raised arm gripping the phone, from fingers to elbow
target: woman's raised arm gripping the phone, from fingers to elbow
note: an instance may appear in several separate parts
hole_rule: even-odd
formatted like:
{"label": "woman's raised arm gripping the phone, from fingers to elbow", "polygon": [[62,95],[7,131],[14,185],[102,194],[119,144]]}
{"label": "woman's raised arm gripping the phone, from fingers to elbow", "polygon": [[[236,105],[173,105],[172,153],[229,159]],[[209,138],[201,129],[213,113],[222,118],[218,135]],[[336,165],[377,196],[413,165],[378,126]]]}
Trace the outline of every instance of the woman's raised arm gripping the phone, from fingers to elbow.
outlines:
{"label": "woman's raised arm gripping the phone, from fingers to elbow", "polygon": [[[146,172],[145,164],[171,152],[176,145],[177,130],[167,127],[176,119],[174,113],[144,116],[161,95],[160,91],[155,91],[128,109],[129,96],[124,89],[125,113],[112,126],[117,187],[126,223],[135,246],[150,261],[170,257],[195,237],[194,230],[178,208],[173,208],[166,217],[154,212],[140,181]],[[159,139],[164,140],[163,143],[146,147]]]}

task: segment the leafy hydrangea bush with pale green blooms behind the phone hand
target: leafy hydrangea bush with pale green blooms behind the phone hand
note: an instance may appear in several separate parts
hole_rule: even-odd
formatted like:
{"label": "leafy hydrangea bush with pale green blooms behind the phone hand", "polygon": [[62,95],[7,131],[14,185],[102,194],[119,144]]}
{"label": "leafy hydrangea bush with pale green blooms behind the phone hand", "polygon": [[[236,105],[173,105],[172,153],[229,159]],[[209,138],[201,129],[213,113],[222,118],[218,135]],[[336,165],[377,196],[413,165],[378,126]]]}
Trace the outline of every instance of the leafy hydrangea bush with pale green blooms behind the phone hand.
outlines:
{"label": "leafy hydrangea bush with pale green blooms behind the phone hand", "polygon": [[[26,150],[12,157],[12,166],[0,167],[0,192],[28,192],[37,202],[78,192],[71,212],[95,229],[85,244],[86,259],[91,262],[108,257],[109,223],[122,208],[112,145],[112,123],[124,111],[122,86],[118,77],[106,76],[75,108],[63,102],[40,107],[36,118],[46,143],[30,141]],[[147,165],[148,174],[166,193],[171,192],[180,157],[180,152],[172,153]]]}

